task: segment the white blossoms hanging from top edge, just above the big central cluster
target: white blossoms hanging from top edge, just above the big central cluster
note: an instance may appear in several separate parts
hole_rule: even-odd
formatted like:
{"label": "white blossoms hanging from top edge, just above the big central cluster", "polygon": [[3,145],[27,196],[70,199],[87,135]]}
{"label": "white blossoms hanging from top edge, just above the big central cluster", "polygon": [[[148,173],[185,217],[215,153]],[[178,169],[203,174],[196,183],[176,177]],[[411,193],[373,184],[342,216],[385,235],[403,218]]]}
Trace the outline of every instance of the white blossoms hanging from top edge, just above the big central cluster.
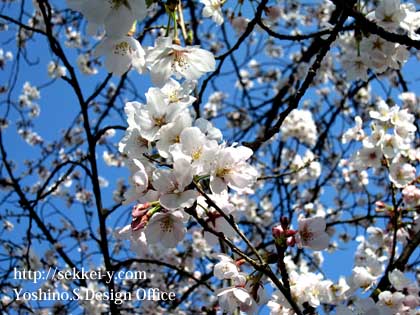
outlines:
{"label": "white blossoms hanging from top edge, just above the big central cluster", "polygon": [[[95,49],[96,57],[105,56],[108,72],[123,75],[130,68],[139,73],[150,70],[152,81],[162,86],[172,75],[196,80],[214,70],[213,55],[197,46],[180,46],[178,39],[159,37],[146,51],[132,35],[136,23],[147,16],[145,0],[67,0],[69,7],[88,20],[89,32],[105,29],[105,36]],[[81,60],[79,60],[81,63]]]}

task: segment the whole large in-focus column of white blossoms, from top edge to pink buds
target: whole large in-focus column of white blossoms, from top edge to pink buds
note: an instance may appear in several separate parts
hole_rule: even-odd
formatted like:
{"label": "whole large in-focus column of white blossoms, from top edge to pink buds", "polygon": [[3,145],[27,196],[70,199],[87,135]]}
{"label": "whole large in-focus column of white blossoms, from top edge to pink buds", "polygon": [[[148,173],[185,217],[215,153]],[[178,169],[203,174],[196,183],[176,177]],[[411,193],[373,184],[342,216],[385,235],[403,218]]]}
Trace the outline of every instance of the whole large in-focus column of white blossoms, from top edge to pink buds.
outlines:
{"label": "whole large in-focus column of white blossoms, from top edge to pink buds", "polygon": [[[102,6],[97,1],[69,0],[68,4],[85,15],[91,34],[105,29],[95,54],[105,55],[109,72],[122,75],[130,67],[139,72],[149,69],[156,85],[146,93],[145,104],[126,104],[128,128],[119,145],[132,173],[125,202],[140,202],[132,211],[132,232],[140,232],[136,240],[144,233],[147,244],[175,247],[189,220],[184,209],[195,205],[197,215],[214,231],[233,237],[218,211],[233,214],[229,189],[237,193],[250,189],[257,171],[247,162],[251,149],[228,146],[219,129],[205,119],[194,120],[191,113],[195,80],[214,71],[213,54],[197,46],[183,47],[171,37],[158,37],[154,47],[144,50],[130,35],[133,23],[146,16],[144,0],[110,1]],[[79,63],[89,70],[88,60],[89,56]],[[179,83],[172,77],[184,80]],[[217,206],[199,198],[200,191],[209,192]],[[214,243],[212,236],[207,235],[208,243]]]}

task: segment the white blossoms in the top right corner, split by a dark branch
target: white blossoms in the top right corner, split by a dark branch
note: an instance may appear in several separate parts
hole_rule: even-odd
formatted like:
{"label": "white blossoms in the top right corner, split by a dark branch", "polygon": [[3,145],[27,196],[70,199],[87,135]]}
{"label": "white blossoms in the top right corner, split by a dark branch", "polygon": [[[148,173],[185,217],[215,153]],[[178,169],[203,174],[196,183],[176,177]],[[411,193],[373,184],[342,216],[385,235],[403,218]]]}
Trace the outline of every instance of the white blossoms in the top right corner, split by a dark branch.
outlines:
{"label": "white blossoms in the top right corner, split by a dark branch", "polygon": [[[420,27],[420,12],[416,12],[414,4],[402,4],[400,0],[381,0],[366,17],[389,32],[404,31],[412,39],[419,38],[416,30]],[[349,80],[366,81],[369,69],[377,73],[383,73],[389,68],[400,69],[409,58],[405,46],[388,42],[374,34],[342,36],[340,46],[343,51],[341,64]]]}

